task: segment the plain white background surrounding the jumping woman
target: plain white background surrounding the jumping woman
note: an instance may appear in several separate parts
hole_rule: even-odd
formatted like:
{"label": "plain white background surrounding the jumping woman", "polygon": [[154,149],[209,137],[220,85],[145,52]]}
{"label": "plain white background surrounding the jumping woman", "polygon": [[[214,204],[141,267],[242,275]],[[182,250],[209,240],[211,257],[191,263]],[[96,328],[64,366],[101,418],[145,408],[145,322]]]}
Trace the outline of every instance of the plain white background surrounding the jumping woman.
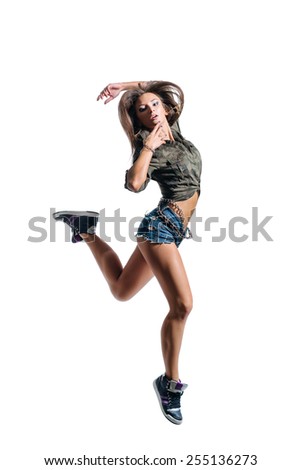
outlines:
{"label": "plain white background surrounding the jumping woman", "polygon": [[[300,468],[300,15],[293,1],[11,1],[1,7],[1,468],[43,457],[257,454]],[[159,190],[123,189],[130,146],[110,82],[178,83],[182,133],[203,158],[197,215],[227,227],[184,242],[194,292],[181,378],[184,423],[159,410],[153,280],[118,303],[84,244],[50,242],[50,208],[120,208],[130,220]],[[273,242],[251,238],[252,207]],[[29,220],[44,217],[44,242]],[[107,234],[112,232],[108,224]],[[135,243],[112,238],[126,262]],[[184,468],[184,463],[178,467]],[[64,468],[63,466],[61,468]],[[66,467],[67,468],[67,467]],[[70,467],[68,467],[70,468]],[[208,468],[208,467],[207,467]],[[225,467],[224,467],[225,468]]]}

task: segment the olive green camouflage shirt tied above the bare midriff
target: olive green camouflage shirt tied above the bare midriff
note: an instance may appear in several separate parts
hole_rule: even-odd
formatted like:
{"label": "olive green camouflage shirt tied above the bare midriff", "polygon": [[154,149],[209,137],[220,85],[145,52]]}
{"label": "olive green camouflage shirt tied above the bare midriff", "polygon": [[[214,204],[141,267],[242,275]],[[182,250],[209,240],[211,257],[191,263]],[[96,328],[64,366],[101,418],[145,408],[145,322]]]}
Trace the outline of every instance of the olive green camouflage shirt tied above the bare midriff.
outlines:
{"label": "olive green camouflage shirt tied above the bare midriff", "polygon": [[[174,141],[167,140],[158,147],[150,161],[147,178],[137,192],[143,191],[150,180],[157,181],[162,197],[173,201],[184,201],[198,191],[200,194],[200,179],[202,173],[202,159],[195,146],[184,139],[176,122],[172,127]],[[143,148],[143,141],[149,131],[143,129],[139,132],[138,143],[133,155],[133,163],[137,160]],[[125,188],[127,186],[127,173]]]}

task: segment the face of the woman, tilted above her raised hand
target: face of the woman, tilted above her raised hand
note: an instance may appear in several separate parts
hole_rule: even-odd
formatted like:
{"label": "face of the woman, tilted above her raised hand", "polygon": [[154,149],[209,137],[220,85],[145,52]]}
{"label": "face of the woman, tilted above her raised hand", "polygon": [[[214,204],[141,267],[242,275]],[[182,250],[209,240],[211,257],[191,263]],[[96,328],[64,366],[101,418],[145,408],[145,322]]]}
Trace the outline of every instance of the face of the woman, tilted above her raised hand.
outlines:
{"label": "face of the woman, tilted above her raised hand", "polygon": [[139,96],[135,110],[139,122],[147,129],[153,129],[159,121],[163,124],[168,114],[161,99],[153,93],[143,93]]}

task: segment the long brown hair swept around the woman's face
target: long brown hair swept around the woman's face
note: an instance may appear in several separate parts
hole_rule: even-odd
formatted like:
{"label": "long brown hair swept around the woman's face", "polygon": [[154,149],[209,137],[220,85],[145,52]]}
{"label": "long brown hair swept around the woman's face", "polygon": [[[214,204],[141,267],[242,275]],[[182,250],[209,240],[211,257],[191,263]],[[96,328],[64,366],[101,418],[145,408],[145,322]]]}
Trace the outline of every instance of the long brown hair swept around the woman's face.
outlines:
{"label": "long brown hair swept around the woman's face", "polygon": [[179,118],[184,106],[184,93],[178,85],[172,82],[143,82],[139,83],[139,87],[126,91],[119,101],[118,114],[133,150],[136,147],[137,134],[142,129],[136,116],[135,103],[144,93],[154,93],[161,99],[168,112],[166,118],[170,126]]}

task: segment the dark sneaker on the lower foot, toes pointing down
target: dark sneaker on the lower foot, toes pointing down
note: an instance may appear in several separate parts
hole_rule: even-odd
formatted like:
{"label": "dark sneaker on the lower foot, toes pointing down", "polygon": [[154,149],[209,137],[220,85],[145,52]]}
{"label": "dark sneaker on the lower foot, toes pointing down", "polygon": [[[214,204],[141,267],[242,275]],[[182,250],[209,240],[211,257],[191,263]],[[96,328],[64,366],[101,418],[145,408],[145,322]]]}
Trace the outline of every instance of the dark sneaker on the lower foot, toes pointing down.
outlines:
{"label": "dark sneaker on the lower foot, toes pointing down", "polygon": [[166,375],[160,375],[154,380],[153,385],[165,418],[174,424],[181,424],[183,421],[181,396],[188,385],[180,381],[169,380]]}

